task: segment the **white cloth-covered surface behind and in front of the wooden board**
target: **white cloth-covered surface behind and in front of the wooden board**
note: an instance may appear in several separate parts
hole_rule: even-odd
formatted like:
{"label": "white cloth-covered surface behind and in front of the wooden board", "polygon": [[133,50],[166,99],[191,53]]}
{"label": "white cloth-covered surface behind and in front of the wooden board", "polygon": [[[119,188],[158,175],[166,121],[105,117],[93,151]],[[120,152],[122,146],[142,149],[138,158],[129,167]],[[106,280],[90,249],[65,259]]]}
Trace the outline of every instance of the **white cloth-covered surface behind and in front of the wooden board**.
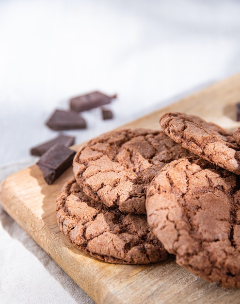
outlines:
{"label": "white cloth-covered surface behind and in front of the wooden board", "polygon": [[[239,0],[0,0],[0,180],[36,161],[45,121],[92,90],[88,140],[240,72]],[[0,303],[93,303],[0,207]]]}

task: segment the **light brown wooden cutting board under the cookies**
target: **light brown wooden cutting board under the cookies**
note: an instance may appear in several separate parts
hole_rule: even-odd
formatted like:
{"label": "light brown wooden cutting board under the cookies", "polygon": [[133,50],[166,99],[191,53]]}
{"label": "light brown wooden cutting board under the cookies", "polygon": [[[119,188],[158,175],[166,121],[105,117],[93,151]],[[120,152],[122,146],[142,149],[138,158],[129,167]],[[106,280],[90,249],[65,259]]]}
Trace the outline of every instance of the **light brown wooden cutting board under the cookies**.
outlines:
{"label": "light brown wooden cutting board under the cookies", "polygon": [[[159,118],[168,111],[199,115],[224,128],[240,126],[235,104],[240,101],[240,74],[213,84],[124,127],[160,129]],[[77,150],[80,145],[73,149]],[[69,168],[48,186],[36,165],[7,177],[0,185],[5,211],[97,303],[240,303],[240,289],[209,284],[174,259],[155,265],[111,265],[75,249],[60,233],[55,200],[64,182],[73,176]]]}

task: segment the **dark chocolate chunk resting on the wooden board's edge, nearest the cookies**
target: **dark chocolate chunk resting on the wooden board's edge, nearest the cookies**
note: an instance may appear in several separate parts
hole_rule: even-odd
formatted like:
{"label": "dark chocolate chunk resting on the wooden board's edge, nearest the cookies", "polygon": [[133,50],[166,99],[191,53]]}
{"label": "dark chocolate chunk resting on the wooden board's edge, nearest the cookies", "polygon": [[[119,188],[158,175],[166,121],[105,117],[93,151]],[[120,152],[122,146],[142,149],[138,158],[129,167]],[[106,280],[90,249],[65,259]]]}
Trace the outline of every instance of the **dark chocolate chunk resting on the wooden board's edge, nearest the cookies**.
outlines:
{"label": "dark chocolate chunk resting on the wooden board's edge, nearest the cookies", "polygon": [[55,144],[37,161],[48,185],[51,185],[67,168],[72,165],[75,151],[64,145]]}

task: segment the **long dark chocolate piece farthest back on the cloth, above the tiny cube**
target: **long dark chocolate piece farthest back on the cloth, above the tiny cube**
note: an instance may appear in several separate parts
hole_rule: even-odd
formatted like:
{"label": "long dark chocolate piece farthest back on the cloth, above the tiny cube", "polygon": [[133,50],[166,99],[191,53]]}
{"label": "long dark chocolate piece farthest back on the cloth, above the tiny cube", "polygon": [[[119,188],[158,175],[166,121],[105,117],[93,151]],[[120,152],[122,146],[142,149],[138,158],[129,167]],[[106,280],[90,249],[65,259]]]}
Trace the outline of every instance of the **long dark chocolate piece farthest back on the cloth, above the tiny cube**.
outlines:
{"label": "long dark chocolate piece farthest back on the cloth, above the tiny cube", "polygon": [[101,92],[95,91],[70,99],[70,109],[76,112],[90,110],[101,105],[108,104],[116,97],[116,95],[108,96]]}

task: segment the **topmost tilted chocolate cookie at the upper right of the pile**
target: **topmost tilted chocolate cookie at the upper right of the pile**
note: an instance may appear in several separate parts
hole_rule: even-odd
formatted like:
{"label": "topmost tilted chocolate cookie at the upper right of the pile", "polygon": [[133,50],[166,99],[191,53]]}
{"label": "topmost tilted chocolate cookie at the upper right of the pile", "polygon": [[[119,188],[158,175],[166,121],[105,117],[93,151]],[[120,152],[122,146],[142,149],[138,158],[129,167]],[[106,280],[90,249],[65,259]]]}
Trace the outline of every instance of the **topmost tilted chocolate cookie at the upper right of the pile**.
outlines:
{"label": "topmost tilted chocolate cookie at the upper right of the pile", "polygon": [[240,146],[233,134],[200,117],[166,113],[163,131],[189,151],[233,173],[240,174]]}

